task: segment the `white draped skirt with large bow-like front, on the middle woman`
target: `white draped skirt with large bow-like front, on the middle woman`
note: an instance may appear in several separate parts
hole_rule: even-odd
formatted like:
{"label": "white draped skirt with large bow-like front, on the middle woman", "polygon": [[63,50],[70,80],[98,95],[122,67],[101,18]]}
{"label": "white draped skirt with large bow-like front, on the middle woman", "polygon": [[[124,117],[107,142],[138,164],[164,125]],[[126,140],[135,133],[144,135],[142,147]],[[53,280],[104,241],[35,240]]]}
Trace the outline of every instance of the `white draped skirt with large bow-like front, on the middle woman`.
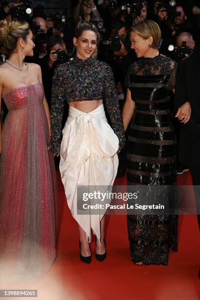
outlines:
{"label": "white draped skirt with large bow-like front, on the middle woman", "polygon": [[72,106],[63,129],[60,173],[68,206],[91,241],[100,240],[102,214],[77,214],[77,186],[112,186],[117,175],[119,139],[108,125],[103,104],[90,113]]}

